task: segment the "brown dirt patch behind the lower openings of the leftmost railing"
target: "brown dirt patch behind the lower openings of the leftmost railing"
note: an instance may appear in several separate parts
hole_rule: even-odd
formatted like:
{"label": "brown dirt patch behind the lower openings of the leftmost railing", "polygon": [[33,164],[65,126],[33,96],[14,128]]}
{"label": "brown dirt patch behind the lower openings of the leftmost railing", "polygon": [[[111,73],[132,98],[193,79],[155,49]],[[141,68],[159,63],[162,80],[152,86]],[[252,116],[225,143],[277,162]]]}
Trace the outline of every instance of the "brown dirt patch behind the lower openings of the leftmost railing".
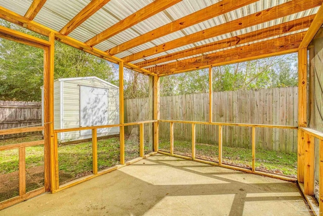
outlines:
{"label": "brown dirt patch behind the lower openings of the leftmost railing", "polygon": [[[44,166],[26,169],[26,192],[44,186]],[[0,202],[19,195],[19,171],[0,175]]]}

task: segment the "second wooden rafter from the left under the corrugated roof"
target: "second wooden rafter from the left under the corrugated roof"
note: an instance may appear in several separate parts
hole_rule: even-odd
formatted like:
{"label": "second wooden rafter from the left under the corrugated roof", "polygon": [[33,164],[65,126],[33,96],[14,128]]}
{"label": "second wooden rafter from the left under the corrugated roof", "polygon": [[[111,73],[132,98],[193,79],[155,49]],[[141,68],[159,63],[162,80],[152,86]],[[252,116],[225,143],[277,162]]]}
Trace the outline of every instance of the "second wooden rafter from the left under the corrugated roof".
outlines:
{"label": "second wooden rafter from the left under the corrugated roof", "polygon": [[68,35],[108,2],[110,2],[110,0],[91,1],[60,30],[60,33]]}

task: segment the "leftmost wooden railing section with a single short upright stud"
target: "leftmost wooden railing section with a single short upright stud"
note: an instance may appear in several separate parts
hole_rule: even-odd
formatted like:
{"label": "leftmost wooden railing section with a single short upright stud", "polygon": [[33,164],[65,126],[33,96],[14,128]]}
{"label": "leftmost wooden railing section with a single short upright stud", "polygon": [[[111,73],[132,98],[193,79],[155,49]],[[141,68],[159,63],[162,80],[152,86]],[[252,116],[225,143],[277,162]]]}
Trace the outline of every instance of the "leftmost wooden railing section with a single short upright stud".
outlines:
{"label": "leftmost wooden railing section with a single short upright stud", "polygon": [[[3,130],[0,130],[0,136],[10,135],[10,134],[20,134],[20,133],[26,133],[26,132],[38,132],[38,131],[43,131],[43,129],[44,127],[42,126],[3,129]],[[26,193],[26,148],[31,146],[38,146],[38,145],[44,145],[44,140],[0,146],[0,151],[19,149],[19,196],[0,202],[0,210],[45,192],[45,188],[41,187]]]}

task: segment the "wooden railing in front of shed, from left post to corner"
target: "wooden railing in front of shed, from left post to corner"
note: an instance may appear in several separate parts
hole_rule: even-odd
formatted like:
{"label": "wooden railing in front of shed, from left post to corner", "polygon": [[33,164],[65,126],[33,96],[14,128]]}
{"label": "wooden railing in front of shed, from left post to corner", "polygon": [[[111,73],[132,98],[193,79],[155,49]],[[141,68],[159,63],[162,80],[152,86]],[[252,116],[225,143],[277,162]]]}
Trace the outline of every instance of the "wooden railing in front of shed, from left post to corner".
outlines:
{"label": "wooden railing in front of shed, from left post to corner", "polygon": [[[149,155],[155,154],[156,152],[152,152],[151,154],[144,155],[144,124],[153,123],[156,120],[149,121],[140,121],[140,122],[131,122],[131,123],[123,123],[123,124],[109,124],[109,125],[99,125],[99,126],[87,126],[87,127],[74,127],[74,128],[65,128],[65,129],[55,129],[54,130],[54,145],[52,146],[52,158],[50,161],[50,182],[52,185],[52,193],[58,192],[65,188],[69,188],[73,185],[79,184],[86,180],[92,179],[96,176],[105,174],[107,172],[118,169],[124,165],[131,164],[136,162],[142,158],[145,158]],[[139,157],[135,158],[131,161],[124,161],[125,158],[125,147],[124,147],[124,137],[120,137],[120,165],[116,165],[101,171],[97,170],[97,129],[99,128],[109,128],[109,127],[125,127],[130,125],[139,125]],[[59,184],[59,165],[58,165],[58,133],[64,132],[74,132],[74,131],[83,131],[83,130],[91,130],[92,131],[92,175],[74,180],[72,182],[66,183],[64,185]]]}

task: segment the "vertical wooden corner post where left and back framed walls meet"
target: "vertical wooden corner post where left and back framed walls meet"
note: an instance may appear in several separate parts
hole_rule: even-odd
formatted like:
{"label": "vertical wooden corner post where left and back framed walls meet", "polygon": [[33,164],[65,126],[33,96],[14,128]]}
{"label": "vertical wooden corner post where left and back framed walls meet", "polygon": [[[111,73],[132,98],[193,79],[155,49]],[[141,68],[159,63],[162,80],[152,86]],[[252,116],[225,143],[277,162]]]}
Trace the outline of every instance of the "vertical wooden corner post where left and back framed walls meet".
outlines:
{"label": "vertical wooden corner post where left and back framed walls meet", "polygon": [[[153,77],[153,119],[159,120],[159,77]],[[159,140],[159,122],[154,122],[154,136],[153,136],[153,144],[154,151],[158,151],[158,140]]]}

